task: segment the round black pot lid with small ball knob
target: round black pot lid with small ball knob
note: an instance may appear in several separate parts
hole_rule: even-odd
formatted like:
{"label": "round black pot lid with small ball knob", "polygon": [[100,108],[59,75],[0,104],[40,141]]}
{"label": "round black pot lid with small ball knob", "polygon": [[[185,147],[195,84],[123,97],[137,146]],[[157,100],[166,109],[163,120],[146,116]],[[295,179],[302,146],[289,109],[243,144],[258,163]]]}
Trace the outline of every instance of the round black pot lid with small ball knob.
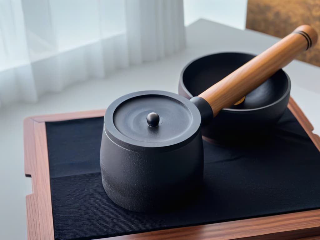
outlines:
{"label": "round black pot lid with small ball knob", "polygon": [[199,110],[188,99],[164,91],[142,91],[115,100],[105,115],[109,138],[141,147],[179,144],[200,128]]}

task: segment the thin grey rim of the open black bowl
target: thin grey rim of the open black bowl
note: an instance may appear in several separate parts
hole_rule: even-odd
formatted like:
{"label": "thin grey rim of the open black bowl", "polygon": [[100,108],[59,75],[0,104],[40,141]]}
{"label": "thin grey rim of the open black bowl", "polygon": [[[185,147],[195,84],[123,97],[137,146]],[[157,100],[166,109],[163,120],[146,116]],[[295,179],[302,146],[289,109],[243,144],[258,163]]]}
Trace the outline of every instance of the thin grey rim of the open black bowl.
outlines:
{"label": "thin grey rim of the open black bowl", "polygon": [[[206,58],[206,57],[210,57],[212,55],[219,55],[219,54],[226,54],[226,53],[235,53],[235,54],[245,54],[245,55],[250,55],[252,57],[255,57],[257,56],[256,54],[252,54],[252,53],[247,53],[247,52],[216,52],[216,53],[211,53],[211,54],[205,54],[205,55],[202,55],[202,56],[199,56],[198,58],[196,59],[193,59],[191,61],[189,61],[186,66],[182,69],[181,73],[180,73],[180,79],[179,79],[179,85],[182,87],[182,89],[184,90],[184,92],[186,92],[188,94],[188,96],[190,98],[194,97],[189,91],[188,89],[186,88],[186,86],[184,85],[184,82],[183,82],[183,74],[185,72],[185,70],[194,62],[200,60],[200,59],[203,59],[203,58]],[[270,103],[266,106],[263,106],[263,107],[260,107],[260,108],[250,108],[250,109],[234,109],[234,108],[222,108],[220,110],[220,112],[232,112],[232,113],[244,113],[244,112],[252,112],[252,111],[257,111],[257,110],[261,110],[261,109],[265,109],[265,108],[269,108],[273,105],[276,105],[277,103],[281,102],[282,100],[284,100],[288,94],[290,94],[290,90],[291,90],[291,80],[290,80],[290,77],[288,76],[288,74],[282,69],[280,68],[278,71],[282,71],[284,72],[286,78],[287,78],[287,83],[288,83],[288,87],[286,89],[286,91],[284,92],[284,94],[282,95],[281,98],[279,98],[278,100],[274,101],[273,103]],[[277,71],[277,72],[278,72]]]}

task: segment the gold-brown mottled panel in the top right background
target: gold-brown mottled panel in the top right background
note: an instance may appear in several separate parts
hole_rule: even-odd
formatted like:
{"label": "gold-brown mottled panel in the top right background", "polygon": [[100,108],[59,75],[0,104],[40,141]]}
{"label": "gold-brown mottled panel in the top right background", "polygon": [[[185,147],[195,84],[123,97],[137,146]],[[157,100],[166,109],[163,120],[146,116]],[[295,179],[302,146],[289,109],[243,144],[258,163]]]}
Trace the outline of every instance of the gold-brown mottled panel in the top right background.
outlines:
{"label": "gold-brown mottled panel in the top right background", "polygon": [[[248,0],[246,28],[282,38],[302,24],[320,34],[320,0]],[[320,66],[320,44],[297,59]]]}

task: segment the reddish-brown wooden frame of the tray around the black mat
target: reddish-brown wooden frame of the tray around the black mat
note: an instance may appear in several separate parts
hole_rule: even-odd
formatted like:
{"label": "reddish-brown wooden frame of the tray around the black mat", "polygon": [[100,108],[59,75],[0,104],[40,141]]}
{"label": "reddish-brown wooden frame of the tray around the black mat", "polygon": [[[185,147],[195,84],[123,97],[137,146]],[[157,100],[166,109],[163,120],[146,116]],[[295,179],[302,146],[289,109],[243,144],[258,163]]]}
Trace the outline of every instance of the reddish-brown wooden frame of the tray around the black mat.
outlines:
{"label": "reddish-brown wooden frame of the tray around the black mat", "polygon": [[[320,151],[301,109],[290,98],[288,108]],[[26,196],[28,240],[54,240],[49,161],[45,122],[104,116],[105,109],[28,117],[24,120],[25,174],[32,177],[33,193]],[[306,238],[307,237],[307,238]],[[320,239],[320,209],[222,223],[172,228],[110,237],[110,240],[147,239]],[[107,239],[107,238],[104,238]]]}

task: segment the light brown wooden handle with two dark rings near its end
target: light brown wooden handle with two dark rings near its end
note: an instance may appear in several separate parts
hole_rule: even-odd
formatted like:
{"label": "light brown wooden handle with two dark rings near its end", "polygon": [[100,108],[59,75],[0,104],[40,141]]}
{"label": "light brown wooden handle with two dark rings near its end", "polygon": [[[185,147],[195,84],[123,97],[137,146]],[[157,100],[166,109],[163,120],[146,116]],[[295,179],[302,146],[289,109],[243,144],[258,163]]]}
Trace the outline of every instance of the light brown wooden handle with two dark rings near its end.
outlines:
{"label": "light brown wooden handle with two dark rings near its end", "polygon": [[317,40],[318,35],[314,28],[302,25],[198,97],[206,100],[212,108],[213,116],[217,116],[222,108],[230,107],[260,86],[301,52],[314,46]]}

